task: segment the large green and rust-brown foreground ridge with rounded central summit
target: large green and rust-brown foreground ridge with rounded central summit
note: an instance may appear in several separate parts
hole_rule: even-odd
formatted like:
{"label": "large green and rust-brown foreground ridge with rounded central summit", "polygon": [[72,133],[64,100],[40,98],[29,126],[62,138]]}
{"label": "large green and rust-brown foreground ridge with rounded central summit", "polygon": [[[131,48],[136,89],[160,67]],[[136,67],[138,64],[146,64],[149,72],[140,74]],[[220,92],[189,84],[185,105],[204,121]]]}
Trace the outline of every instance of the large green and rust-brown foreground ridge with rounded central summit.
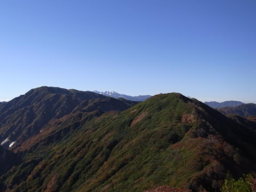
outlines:
{"label": "large green and rust-brown foreground ridge with rounded central summit", "polygon": [[100,110],[52,121],[14,147],[23,163],[0,178],[2,190],[218,191],[226,177],[255,171],[256,133],[181,94],[92,113]]}

